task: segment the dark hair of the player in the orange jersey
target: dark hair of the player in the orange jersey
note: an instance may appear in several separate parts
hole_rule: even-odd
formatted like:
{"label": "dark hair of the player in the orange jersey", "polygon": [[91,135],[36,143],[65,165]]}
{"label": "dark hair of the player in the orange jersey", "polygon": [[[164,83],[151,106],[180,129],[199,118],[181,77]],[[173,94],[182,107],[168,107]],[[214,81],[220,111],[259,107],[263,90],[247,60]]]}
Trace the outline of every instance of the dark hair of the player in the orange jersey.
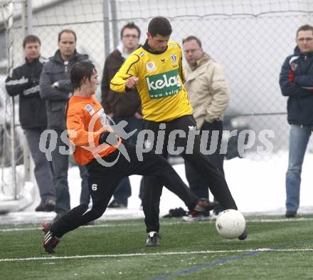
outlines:
{"label": "dark hair of the player in the orange jersey", "polygon": [[94,70],[96,71],[95,66],[89,61],[82,61],[73,66],[70,70],[70,83],[73,88],[80,88],[85,77],[90,81]]}

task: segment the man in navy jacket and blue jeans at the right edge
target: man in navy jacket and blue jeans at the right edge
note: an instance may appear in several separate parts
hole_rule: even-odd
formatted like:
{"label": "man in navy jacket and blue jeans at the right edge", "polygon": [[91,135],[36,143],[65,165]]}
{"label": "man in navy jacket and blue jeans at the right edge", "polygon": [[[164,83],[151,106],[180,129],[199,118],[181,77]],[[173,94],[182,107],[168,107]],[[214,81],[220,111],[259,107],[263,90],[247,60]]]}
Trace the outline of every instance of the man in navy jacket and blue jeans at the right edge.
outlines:
{"label": "man in navy jacket and blue jeans at the right edge", "polygon": [[287,218],[297,216],[302,163],[313,131],[313,26],[297,30],[295,53],[288,56],[280,72],[282,95],[288,96],[290,123],[289,163],[286,173]]}

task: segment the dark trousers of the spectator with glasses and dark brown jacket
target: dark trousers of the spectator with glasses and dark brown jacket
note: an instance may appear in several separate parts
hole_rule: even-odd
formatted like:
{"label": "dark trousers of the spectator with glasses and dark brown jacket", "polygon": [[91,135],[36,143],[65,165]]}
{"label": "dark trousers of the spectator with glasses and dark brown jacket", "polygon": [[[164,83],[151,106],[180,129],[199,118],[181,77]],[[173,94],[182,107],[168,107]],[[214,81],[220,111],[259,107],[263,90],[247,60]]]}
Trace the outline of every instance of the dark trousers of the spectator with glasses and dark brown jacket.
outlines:
{"label": "dark trousers of the spectator with glasses and dark brown jacket", "polygon": [[[136,145],[139,130],[142,128],[142,120],[137,119],[134,116],[132,117],[114,116],[113,120],[115,124],[120,123],[121,120],[126,120],[128,124],[125,126],[124,130],[127,133],[130,133],[133,130],[137,129],[137,132],[134,133],[129,138],[129,142],[131,142],[133,145]],[[130,197],[131,195],[132,188],[130,187],[129,177],[124,177],[122,180],[120,180],[120,183],[117,185],[113,197],[117,202],[127,205],[128,197]]]}

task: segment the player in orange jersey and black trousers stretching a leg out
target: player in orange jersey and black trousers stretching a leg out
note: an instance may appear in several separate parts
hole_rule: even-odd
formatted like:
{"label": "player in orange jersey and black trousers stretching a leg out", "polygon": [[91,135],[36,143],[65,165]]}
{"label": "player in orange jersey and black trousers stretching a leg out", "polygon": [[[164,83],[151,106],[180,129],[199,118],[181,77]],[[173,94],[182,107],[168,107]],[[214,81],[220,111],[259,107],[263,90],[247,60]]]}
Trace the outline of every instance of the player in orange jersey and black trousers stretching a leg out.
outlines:
{"label": "player in orange jersey and black trousers stretching a leg out", "polygon": [[[71,209],[53,224],[43,224],[43,248],[46,252],[53,254],[65,233],[101,217],[120,180],[130,175],[157,176],[161,184],[180,197],[191,212],[204,212],[216,206],[208,199],[193,195],[164,157],[149,151],[142,152],[139,160],[137,152],[142,148],[116,135],[114,126],[108,124],[105,112],[94,96],[98,81],[92,63],[81,62],[73,66],[70,80],[74,94],[68,101],[66,125],[68,136],[75,144],[75,160],[88,170],[90,201]],[[154,235],[157,240],[157,234]],[[147,245],[156,246],[156,243]]]}

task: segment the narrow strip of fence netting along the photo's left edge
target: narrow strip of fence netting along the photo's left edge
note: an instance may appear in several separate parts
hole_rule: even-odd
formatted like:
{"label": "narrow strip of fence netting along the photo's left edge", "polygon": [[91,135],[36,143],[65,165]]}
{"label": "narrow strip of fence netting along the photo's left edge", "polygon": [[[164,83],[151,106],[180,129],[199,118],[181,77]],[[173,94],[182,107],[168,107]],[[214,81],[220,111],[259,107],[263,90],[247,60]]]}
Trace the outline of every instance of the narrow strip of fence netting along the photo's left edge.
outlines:
{"label": "narrow strip of fence netting along the photo's left edge", "polygon": [[2,200],[4,195],[7,199],[18,199],[22,192],[23,147],[20,140],[23,139],[23,135],[18,125],[17,100],[6,95],[4,87],[6,74],[11,73],[14,67],[14,3],[0,1],[0,9],[3,24],[0,29],[3,47],[0,52],[0,200]]}

